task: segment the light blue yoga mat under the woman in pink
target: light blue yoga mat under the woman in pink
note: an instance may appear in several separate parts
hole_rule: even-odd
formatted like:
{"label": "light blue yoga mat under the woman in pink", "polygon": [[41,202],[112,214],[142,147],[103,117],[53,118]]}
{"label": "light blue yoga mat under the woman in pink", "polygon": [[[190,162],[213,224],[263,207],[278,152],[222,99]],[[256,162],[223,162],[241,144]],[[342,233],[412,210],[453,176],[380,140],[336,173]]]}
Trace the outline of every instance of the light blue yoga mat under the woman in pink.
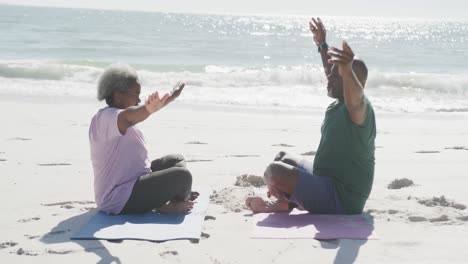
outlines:
{"label": "light blue yoga mat under the woman in pink", "polygon": [[209,204],[208,192],[200,196],[192,212],[167,215],[148,212],[132,215],[108,215],[97,211],[71,239],[75,240],[148,240],[200,239]]}

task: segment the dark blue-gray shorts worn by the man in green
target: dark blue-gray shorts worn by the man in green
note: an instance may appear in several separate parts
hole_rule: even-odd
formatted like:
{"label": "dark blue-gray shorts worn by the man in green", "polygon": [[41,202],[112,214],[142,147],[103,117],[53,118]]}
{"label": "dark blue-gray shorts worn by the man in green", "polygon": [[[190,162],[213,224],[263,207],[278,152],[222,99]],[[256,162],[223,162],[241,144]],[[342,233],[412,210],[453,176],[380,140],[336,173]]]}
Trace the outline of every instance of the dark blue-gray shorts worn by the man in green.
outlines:
{"label": "dark blue-gray shorts worn by the man in green", "polygon": [[302,160],[299,163],[296,191],[290,202],[312,214],[344,214],[331,178],[314,175],[313,163]]}

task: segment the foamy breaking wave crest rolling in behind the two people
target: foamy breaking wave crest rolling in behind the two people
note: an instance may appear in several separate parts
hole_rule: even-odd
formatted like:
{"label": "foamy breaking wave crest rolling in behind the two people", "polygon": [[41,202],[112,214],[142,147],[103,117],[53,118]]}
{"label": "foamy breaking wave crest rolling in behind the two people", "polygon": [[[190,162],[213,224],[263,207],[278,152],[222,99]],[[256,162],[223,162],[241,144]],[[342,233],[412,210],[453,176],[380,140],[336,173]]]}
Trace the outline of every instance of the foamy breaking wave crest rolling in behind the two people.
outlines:
{"label": "foamy breaking wave crest rolling in behind the two people", "polygon": [[[95,83],[106,63],[80,61],[0,61],[0,77]],[[200,70],[180,70],[180,66],[136,66],[142,82],[151,86],[168,85],[185,79],[197,87],[245,88],[258,86],[311,86],[322,89],[326,78],[319,65],[277,67],[200,66]],[[183,68],[183,67],[182,67]],[[192,68],[195,68],[192,66]],[[468,95],[468,74],[370,71],[366,84],[375,94],[435,93]]]}

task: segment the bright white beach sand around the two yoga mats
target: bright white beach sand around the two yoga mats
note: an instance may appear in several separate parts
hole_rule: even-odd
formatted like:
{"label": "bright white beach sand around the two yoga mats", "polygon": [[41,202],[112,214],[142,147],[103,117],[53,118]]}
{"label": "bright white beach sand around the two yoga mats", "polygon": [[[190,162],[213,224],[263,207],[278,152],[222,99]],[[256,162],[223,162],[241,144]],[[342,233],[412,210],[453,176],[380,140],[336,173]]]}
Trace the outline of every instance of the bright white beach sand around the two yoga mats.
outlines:
{"label": "bright white beach sand around the two yoga mats", "polygon": [[[378,240],[254,240],[244,199],[265,187],[236,184],[237,177],[261,176],[280,150],[313,154],[323,112],[176,102],[140,127],[150,157],[183,154],[195,185],[212,192],[202,239],[71,241],[95,207],[87,135],[100,106],[0,98],[1,263],[468,262],[468,113],[376,109],[375,181],[365,211]],[[414,184],[388,188],[404,178]]]}

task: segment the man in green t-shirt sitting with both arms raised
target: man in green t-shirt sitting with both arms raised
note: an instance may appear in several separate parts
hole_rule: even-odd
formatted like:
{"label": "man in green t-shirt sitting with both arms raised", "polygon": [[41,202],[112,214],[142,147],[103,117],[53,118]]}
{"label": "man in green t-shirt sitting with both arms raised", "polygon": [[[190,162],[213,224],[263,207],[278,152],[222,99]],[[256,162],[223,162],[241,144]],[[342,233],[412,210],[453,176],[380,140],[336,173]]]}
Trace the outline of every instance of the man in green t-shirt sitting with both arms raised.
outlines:
{"label": "man in green t-shirt sitting with both arms raised", "polygon": [[364,95],[367,67],[343,41],[329,48],[320,18],[309,22],[327,75],[328,96],[337,99],[325,112],[314,162],[280,152],[265,171],[268,197],[250,197],[254,212],[288,211],[299,206],[316,214],[359,214],[372,189],[376,125]]}

